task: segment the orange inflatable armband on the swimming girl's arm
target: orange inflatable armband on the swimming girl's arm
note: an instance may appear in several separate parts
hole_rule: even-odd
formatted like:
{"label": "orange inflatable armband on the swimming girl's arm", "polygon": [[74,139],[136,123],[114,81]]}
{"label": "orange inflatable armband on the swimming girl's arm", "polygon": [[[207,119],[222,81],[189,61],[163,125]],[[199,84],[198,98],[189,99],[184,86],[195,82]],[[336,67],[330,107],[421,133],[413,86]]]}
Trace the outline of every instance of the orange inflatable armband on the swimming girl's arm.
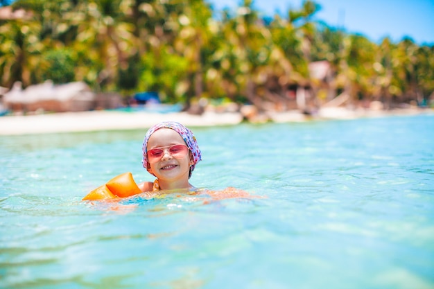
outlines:
{"label": "orange inflatable armband on the swimming girl's arm", "polygon": [[131,195],[141,193],[139,186],[132,178],[131,173],[123,173],[118,175],[103,186],[98,186],[90,193],[88,193],[83,200],[105,200],[114,198],[126,198]]}

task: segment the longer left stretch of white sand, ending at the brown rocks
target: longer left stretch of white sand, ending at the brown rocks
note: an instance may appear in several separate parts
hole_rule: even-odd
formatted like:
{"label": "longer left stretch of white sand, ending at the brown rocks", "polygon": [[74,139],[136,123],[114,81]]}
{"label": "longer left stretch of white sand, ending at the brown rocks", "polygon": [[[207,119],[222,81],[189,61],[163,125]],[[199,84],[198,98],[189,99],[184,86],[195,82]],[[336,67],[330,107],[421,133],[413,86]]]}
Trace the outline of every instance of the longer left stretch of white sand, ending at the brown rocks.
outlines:
{"label": "longer left stretch of white sand, ending at the brown rocks", "polygon": [[234,113],[196,116],[184,112],[159,114],[114,111],[3,116],[0,117],[0,135],[147,129],[160,121],[178,121],[186,126],[228,125],[240,123],[242,116]]}

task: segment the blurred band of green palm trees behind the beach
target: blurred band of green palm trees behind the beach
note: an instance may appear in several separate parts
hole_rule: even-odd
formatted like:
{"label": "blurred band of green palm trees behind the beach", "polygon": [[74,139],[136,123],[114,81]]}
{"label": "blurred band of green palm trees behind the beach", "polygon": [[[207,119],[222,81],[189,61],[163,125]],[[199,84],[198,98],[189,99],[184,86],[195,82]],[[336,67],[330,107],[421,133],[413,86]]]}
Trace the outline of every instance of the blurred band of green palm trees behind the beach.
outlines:
{"label": "blurred band of green palm trees behind the beach", "polygon": [[318,88],[309,64],[327,60],[333,89],[354,100],[433,94],[432,45],[376,44],[317,23],[310,0],[266,20],[253,1],[238,2],[217,20],[205,0],[17,0],[26,16],[0,21],[0,85],[83,80],[96,91],[158,91],[166,102],[261,105],[285,102],[290,87]]}

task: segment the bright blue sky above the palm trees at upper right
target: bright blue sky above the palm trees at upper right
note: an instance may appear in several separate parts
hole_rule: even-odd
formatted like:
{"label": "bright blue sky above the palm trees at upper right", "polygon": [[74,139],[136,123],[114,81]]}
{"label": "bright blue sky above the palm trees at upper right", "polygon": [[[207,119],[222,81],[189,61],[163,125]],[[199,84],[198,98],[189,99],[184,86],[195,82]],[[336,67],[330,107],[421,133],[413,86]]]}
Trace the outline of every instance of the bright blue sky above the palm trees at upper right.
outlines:
{"label": "bright blue sky above the palm trees at upper right", "polygon": [[[207,0],[214,8],[234,8],[242,0]],[[265,15],[288,8],[300,8],[302,0],[253,0]],[[316,0],[322,6],[315,19],[330,26],[344,27],[349,33],[361,33],[374,42],[389,36],[399,42],[409,36],[417,44],[434,44],[433,0]]]}

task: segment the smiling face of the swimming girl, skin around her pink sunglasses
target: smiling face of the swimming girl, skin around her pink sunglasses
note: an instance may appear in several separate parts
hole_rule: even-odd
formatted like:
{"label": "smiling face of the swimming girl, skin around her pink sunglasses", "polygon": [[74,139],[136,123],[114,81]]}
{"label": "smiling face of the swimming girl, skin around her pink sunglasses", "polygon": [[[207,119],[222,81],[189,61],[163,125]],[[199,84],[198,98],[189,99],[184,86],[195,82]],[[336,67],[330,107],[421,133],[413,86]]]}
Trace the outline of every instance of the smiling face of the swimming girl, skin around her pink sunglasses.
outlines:
{"label": "smiling face of the swimming girl, skin around her pink sunglasses", "polygon": [[[158,179],[166,182],[175,182],[181,179],[189,179],[190,165],[193,164],[191,153],[177,154],[171,152],[171,146],[185,145],[184,139],[170,128],[161,128],[154,132],[149,140],[147,150],[162,148],[161,159],[154,158],[149,161],[150,173]],[[149,157],[148,157],[148,160]]]}

